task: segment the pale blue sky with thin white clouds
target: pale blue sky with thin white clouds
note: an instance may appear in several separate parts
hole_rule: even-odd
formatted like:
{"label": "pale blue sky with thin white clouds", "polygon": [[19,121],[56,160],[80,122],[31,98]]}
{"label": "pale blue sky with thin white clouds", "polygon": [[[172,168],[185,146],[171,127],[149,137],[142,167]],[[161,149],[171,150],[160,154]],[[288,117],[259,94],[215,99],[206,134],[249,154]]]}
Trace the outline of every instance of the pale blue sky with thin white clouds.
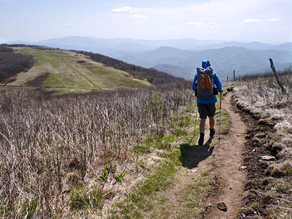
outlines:
{"label": "pale blue sky with thin white clouds", "polygon": [[0,0],[0,42],[104,39],[292,41],[292,0]]}

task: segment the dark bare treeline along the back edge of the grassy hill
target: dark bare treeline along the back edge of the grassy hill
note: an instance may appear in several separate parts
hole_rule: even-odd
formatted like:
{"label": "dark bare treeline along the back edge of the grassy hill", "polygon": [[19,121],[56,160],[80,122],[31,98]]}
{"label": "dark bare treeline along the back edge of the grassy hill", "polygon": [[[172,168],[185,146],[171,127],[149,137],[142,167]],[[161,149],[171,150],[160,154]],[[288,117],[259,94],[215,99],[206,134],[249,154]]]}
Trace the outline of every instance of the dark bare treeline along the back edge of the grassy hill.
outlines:
{"label": "dark bare treeline along the back edge of the grassy hill", "polygon": [[[52,49],[52,47],[48,46],[40,46],[40,45],[26,45],[26,44],[10,44],[8,46],[12,47],[35,47],[35,48],[48,48]],[[56,48],[59,49],[59,48]],[[181,77],[174,77],[166,72],[158,71],[154,68],[144,68],[141,66],[128,64],[118,59],[114,59],[108,57],[106,55],[102,55],[99,53],[92,53],[83,50],[67,50],[75,53],[80,53],[83,55],[89,56],[93,61],[100,62],[105,65],[112,66],[116,69],[128,72],[129,74],[133,75],[134,78],[138,79],[147,79],[151,84],[168,84],[173,82],[185,82],[186,80]]]}

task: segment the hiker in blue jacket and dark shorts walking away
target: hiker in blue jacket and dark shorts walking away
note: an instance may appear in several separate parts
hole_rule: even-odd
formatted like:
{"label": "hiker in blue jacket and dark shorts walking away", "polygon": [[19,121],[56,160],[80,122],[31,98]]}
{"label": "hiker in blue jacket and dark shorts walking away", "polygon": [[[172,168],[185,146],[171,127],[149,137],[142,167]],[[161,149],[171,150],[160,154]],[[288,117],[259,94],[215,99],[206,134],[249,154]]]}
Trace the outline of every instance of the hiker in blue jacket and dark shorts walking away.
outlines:
{"label": "hiker in blue jacket and dark shorts walking away", "polygon": [[198,144],[203,145],[207,116],[209,118],[210,138],[214,137],[214,115],[216,111],[215,103],[217,102],[216,95],[218,94],[218,91],[220,93],[223,92],[220,79],[218,78],[216,72],[213,72],[209,60],[204,60],[202,62],[202,68],[197,68],[192,89],[195,91],[195,95],[197,97],[197,109],[201,119],[199,126],[200,138]]}

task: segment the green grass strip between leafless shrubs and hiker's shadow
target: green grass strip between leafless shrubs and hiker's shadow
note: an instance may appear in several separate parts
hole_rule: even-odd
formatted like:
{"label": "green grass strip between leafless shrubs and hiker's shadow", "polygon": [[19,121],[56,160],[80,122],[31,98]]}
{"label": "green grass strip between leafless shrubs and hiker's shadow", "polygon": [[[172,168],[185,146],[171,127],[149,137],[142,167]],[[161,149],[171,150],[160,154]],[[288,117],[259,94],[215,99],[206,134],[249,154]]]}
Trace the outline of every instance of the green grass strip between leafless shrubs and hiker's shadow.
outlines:
{"label": "green grass strip between leafless shrubs and hiker's shadow", "polygon": [[[167,198],[161,191],[166,190],[177,182],[176,172],[180,151],[177,147],[171,147],[175,136],[171,133],[164,135],[149,135],[145,142],[151,142],[151,146],[163,149],[164,154],[158,165],[152,166],[145,179],[139,185],[134,186],[127,197],[115,204],[122,218],[143,218],[142,212],[149,211],[156,206],[163,206]],[[144,152],[143,146],[134,146],[134,150]]]}

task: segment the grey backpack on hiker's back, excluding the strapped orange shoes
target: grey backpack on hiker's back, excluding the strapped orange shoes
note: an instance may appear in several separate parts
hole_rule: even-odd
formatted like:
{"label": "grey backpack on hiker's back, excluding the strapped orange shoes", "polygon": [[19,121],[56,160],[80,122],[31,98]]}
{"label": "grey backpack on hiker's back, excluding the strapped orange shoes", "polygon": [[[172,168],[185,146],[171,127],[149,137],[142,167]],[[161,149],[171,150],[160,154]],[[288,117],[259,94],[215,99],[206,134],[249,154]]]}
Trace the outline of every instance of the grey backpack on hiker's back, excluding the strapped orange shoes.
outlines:
{"label": "grey backpack on hiker's back, excluding the strapped orange shoes", "polygon": [[[205,88],[202,89],[200,86],[200,80],[199,80],[199,75],[200,74],[208,74],[210,81],[211,81],[211,88]],[[197,88],[195,88],[195,95],[199,98],[199,99],[208,99],[208,98],[213,98],[214,95],[218,94],[218,90],[216,85],[214,84],[213,81],[213,68],[212,67],[207,67],[206,69],[204,68],[197,68]]]}

